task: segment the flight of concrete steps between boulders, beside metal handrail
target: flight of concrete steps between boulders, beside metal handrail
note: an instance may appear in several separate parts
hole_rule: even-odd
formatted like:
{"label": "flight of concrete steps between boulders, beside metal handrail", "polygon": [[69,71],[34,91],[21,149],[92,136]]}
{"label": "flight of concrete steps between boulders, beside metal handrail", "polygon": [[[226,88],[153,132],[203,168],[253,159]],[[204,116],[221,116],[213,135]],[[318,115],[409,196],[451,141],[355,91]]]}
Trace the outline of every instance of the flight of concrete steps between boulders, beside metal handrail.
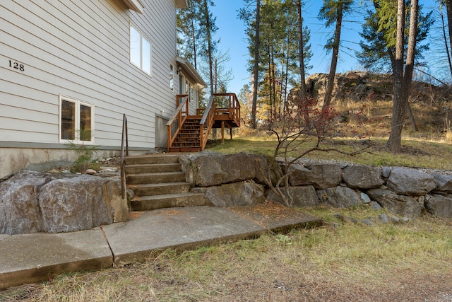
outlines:
{"label": "flight of concrete steps between boulders, beside metal handrail", "polygon": [[203,194],[189,192],[193,185],[174,154],[128,156],[124,159],[126,183],[133,190],[132,211],[205,205]]}

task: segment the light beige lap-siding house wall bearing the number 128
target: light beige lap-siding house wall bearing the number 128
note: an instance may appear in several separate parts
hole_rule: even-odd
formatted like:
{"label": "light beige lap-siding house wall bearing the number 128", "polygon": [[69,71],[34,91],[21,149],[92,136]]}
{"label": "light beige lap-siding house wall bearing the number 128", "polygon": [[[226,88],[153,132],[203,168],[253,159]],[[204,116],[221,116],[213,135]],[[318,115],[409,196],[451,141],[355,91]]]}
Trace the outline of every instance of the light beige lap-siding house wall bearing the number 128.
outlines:
{"label": "light beige lap-siding house wall bearing the number 128", "polygon": [[[174,76],[169,88],[169,65],[177,65],[176,4],[141,3],[143,14],[121,0],[0,2],[0,178],[36,161],[15,158],[13,149],[45,149],[47,161],[52,150],[66,149],[60,95],[93,106],[93,144],[107,153],[121,146],[124,113],[131,149],[155,148],[156,115],[171,117],[179,87]],[[150,42],[150,75],[131,64],[130,24]]]}

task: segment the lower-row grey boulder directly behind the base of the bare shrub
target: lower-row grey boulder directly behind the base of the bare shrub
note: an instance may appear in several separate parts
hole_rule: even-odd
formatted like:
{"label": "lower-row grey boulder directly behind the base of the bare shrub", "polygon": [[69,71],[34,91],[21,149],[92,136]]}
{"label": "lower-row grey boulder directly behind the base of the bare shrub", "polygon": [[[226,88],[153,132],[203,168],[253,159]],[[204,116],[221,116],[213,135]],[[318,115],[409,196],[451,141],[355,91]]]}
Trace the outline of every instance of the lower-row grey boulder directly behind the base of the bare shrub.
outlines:
{"label": "lower-row grey boulder directly behind the base of the bare shrub", "polygon": [[[292,196],[292,207],[315,207],[320,204],[319,198],[316,194],[316,189],[312,185],[304,185],[300,187],[285,187],[280,188],[281,192],[287,196],[289,192]],[[273,200],[275,202],[280,202],[285,204],[283,198],[276,194],[273,190],[269,190],[267,194],[267,199]]]}

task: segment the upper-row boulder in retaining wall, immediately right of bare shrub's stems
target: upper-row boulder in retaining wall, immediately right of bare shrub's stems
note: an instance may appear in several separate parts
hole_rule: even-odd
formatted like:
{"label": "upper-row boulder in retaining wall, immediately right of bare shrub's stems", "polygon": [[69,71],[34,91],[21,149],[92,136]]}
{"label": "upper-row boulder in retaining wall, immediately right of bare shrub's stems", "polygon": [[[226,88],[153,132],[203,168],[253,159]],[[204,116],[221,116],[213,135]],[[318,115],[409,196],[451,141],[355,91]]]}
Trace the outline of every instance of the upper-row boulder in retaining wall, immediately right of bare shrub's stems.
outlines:
{"label": "upper-row boulder in retaining wall, immediately right of bare shrub's stems", "polygon": [[316,189],[335,187],[342,181],[342,169],[334,163],[314,163],[311,165],[290,165],[291,186],[314,185]]}

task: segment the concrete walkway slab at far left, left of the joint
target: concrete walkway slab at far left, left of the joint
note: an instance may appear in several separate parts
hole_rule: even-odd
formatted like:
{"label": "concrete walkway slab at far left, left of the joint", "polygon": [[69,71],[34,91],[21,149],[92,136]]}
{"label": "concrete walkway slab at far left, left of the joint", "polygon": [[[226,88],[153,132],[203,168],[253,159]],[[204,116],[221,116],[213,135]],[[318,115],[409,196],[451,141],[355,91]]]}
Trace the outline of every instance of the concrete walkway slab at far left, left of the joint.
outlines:
{"label": "concrete walkway slab at far left, left of the joint", "polygon": [[112,252],[100,228],[0,236],[0,289],[112,265]]}

